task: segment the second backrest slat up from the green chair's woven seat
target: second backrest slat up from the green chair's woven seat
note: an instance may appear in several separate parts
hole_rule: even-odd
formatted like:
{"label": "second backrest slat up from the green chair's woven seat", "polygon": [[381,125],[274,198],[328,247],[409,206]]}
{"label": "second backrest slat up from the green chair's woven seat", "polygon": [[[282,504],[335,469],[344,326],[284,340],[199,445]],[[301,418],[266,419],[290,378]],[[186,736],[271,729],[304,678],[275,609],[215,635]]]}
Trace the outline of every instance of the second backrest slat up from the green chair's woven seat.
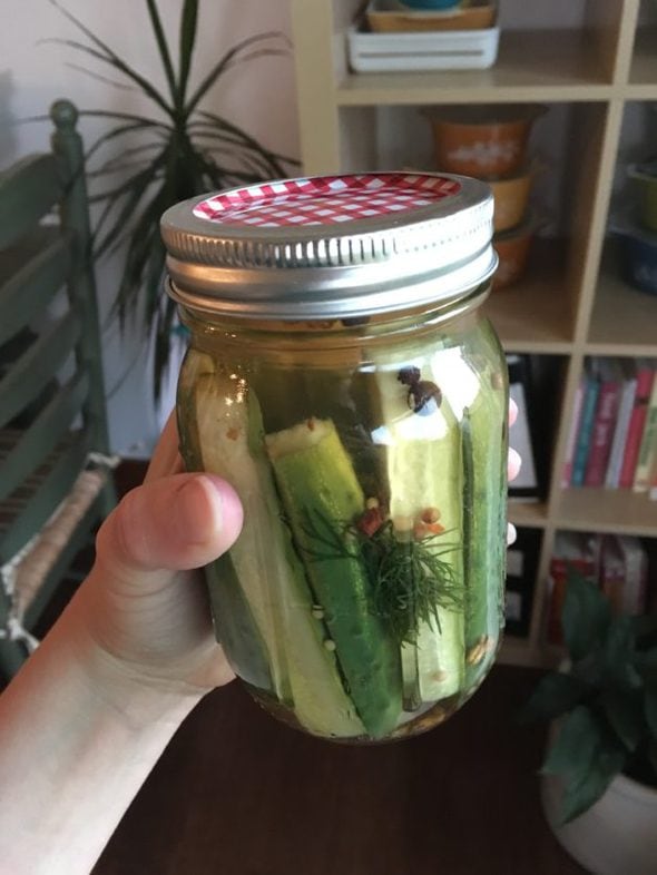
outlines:
{"label": "second backrest slat up from the green chair's woven seat", "polygon": [[57,446],[80,412],[89,392],[89,377],[76,374],[46,405],[16,446],[0,462],[0,501],[11,495]]}

